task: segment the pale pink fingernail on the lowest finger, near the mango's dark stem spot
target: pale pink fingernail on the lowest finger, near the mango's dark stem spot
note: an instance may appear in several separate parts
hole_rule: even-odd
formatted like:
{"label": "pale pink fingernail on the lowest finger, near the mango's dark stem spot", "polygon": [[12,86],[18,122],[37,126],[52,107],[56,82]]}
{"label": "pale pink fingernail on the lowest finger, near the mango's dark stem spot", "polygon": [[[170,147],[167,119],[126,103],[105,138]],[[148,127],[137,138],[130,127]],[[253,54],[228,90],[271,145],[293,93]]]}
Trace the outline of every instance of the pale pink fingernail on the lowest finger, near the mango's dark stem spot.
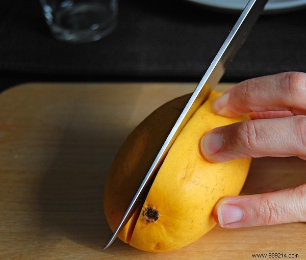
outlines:
{"label": "pale pink fingernail on the lowest finger, near the mango's dark stem spot", "polygon": [[239,206],[224,204],[217,210],[219,224],[223,227],[228,224],[239,222],[243,219],[244,213]]}

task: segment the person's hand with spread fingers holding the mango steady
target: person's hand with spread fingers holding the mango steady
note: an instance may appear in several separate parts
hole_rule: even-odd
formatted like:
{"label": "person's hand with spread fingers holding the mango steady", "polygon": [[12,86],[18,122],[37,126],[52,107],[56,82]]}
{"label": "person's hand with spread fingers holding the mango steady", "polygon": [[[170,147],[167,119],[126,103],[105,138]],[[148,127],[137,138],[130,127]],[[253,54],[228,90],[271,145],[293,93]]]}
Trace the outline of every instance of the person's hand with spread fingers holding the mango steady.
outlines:
{"label": "person's hand with spread fingers holding the mango steady", "polygon": [[[306,160],[306,73],[286,72],[244,81],[213,104],[216,113],[252,120],[212,129],[201,151],[212,162],[247,157]],[[306,184],[255,195],[224,197],[214,209],[226,228],[306,221]]]}

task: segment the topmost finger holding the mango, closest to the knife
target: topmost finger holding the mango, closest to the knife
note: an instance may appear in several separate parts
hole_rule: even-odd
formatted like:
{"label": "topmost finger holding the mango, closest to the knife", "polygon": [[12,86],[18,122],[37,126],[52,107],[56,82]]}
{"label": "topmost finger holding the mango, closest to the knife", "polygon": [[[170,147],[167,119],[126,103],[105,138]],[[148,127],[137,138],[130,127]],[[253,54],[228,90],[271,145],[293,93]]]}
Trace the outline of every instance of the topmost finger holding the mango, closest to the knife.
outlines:
{"label": "topmost finger holding the mango, closest to the knife", "polygon": [[250,112],[306,114],[306,73],[283,72],[243,81],[213,104],[216,113],[235,117]]}

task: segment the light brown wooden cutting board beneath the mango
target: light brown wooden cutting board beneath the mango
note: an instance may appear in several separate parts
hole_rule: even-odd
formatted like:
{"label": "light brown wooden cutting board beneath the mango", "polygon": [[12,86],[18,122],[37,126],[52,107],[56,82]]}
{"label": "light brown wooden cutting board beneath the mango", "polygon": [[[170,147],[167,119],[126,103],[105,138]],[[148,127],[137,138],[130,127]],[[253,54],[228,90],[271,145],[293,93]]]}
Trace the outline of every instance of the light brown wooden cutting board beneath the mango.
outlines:
{"label": "light brown wooden cutting board beneath the mango", "polygon": [[[147,253],[116,240],[102,196],[106,174],[132,129],[193,83],[28,84],[0,95],[1,259],[250,259],[306,257],[306,224],[218,226],[173,252]],[[230,85],[220,85],[224,90]],[[306,182],[297,158],[252,161],[243,194]]]}

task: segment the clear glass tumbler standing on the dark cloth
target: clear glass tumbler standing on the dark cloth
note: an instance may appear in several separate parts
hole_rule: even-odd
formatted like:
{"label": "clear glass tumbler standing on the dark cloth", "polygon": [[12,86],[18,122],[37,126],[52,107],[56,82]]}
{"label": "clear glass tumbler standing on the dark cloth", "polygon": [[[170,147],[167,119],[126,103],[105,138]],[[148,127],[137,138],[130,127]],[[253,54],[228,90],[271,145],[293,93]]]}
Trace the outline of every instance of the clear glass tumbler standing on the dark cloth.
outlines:
{"label": "clear glass tumbler standing on the dark cloth", "polygon": [[61,41],[99,40],[117,24],[117,0],[40,0],[52,35]]}

